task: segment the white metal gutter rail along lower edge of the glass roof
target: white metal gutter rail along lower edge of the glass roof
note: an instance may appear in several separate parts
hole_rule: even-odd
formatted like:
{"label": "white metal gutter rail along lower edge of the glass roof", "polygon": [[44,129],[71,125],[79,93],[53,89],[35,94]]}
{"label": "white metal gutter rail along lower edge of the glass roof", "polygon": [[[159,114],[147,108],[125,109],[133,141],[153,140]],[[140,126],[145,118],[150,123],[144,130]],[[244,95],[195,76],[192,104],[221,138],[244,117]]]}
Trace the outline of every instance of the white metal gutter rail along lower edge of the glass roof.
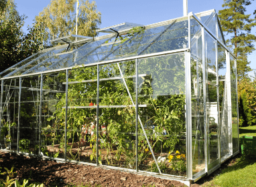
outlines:
{"label": "white metal gutter rail along lower edge of the glass roof", "polygon": [[30,74],[26,74],[26,75],[16,75],[16,76],[12,76],[12,77],[3,77],[3,78],[1,78],[1,80],[13,79],[13,78],[17,78],[17,77],[30,77],[30,76],[33,76],[33,75],[41,75],[41,74],[46,74],[46,73],[56,73],[58,71],[65,71],[67,69],[74,69],[74,68],[76,69],[76,68],[79,68],[79,67],[90,67],[90,66],[94,66],[94,65],[103,65],[103,64],[108,64],[108,63],[115,63],[115,62],[122,62],[122,61],[141,59],[141,58],[146,58],[146,57],[155,57],[155,56],[160,56],[160,55],[182,53],[184,51],[189,51],[189,48],[176,49],[176,50],[171,50],[171,51],[163,51],[163,52],[159,52],[159,53],[151,53],[151,54],[146,54],[146,55],[137,55],[137,56],[133,56],[133,57],[126,57],[126,58],[122,58],[122,59],[113,59],[113,60],[109,60],[109,61],[101,61],[101,62],[95,62],[95,63],[88,63],[88,64],[77,65],[77,66],[73,66],[73,67],[65,67],[65,68],[61,68],[61,69],[54,69],[54,70],[50,70],[50,71],[42,71],[42,72],[38,72],[38,73],[30,73]]}

